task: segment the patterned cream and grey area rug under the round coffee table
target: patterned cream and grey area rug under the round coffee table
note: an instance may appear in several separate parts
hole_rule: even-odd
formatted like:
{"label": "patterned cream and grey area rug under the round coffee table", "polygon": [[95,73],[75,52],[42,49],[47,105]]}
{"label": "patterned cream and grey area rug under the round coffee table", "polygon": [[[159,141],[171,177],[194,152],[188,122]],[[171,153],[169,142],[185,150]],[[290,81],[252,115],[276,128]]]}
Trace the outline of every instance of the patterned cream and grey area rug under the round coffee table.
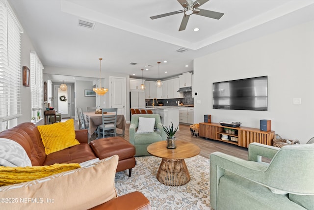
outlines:
{"label": "patterned cream and grey area rug under the round coffee table", "polygon": [[127,172],[116,173],[118,196],[142,192],[151,202],[152,210],[209,210],[209,159],[197,155],[184,159],[191,180],[182,186],[166,186],[156,176],[161,158],[135,157],[131,178]]}

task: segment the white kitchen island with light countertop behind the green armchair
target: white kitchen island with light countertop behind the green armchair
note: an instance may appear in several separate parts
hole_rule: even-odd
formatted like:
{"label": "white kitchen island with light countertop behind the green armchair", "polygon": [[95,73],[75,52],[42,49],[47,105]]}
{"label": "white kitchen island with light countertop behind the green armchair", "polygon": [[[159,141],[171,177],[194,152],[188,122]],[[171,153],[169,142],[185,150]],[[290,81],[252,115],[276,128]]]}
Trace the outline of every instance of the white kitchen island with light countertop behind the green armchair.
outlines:
{"label": "white kitchen island with light countertop behind the green armchair", "polygon": [[160,120],[163,126],[169,127],[171,122],[173,123],[174,127],[179,127],[179,108],[175,106],[147,106],[145,108],[139,108],[145,110],[152,110],[154,114],[160,115]]}

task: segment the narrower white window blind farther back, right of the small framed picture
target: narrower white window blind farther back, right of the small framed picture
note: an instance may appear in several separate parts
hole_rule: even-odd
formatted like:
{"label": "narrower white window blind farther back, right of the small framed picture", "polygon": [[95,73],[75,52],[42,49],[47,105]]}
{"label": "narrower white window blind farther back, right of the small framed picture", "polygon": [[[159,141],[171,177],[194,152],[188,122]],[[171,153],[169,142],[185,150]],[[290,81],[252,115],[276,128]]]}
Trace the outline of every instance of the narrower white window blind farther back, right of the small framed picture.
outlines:
{"label": "narrower white window blind farther back, right of the small framed picture", "polygon": [[43,64],[35,52],[30,52],[30,91],[32,117],[42,116],[43,110]]}

